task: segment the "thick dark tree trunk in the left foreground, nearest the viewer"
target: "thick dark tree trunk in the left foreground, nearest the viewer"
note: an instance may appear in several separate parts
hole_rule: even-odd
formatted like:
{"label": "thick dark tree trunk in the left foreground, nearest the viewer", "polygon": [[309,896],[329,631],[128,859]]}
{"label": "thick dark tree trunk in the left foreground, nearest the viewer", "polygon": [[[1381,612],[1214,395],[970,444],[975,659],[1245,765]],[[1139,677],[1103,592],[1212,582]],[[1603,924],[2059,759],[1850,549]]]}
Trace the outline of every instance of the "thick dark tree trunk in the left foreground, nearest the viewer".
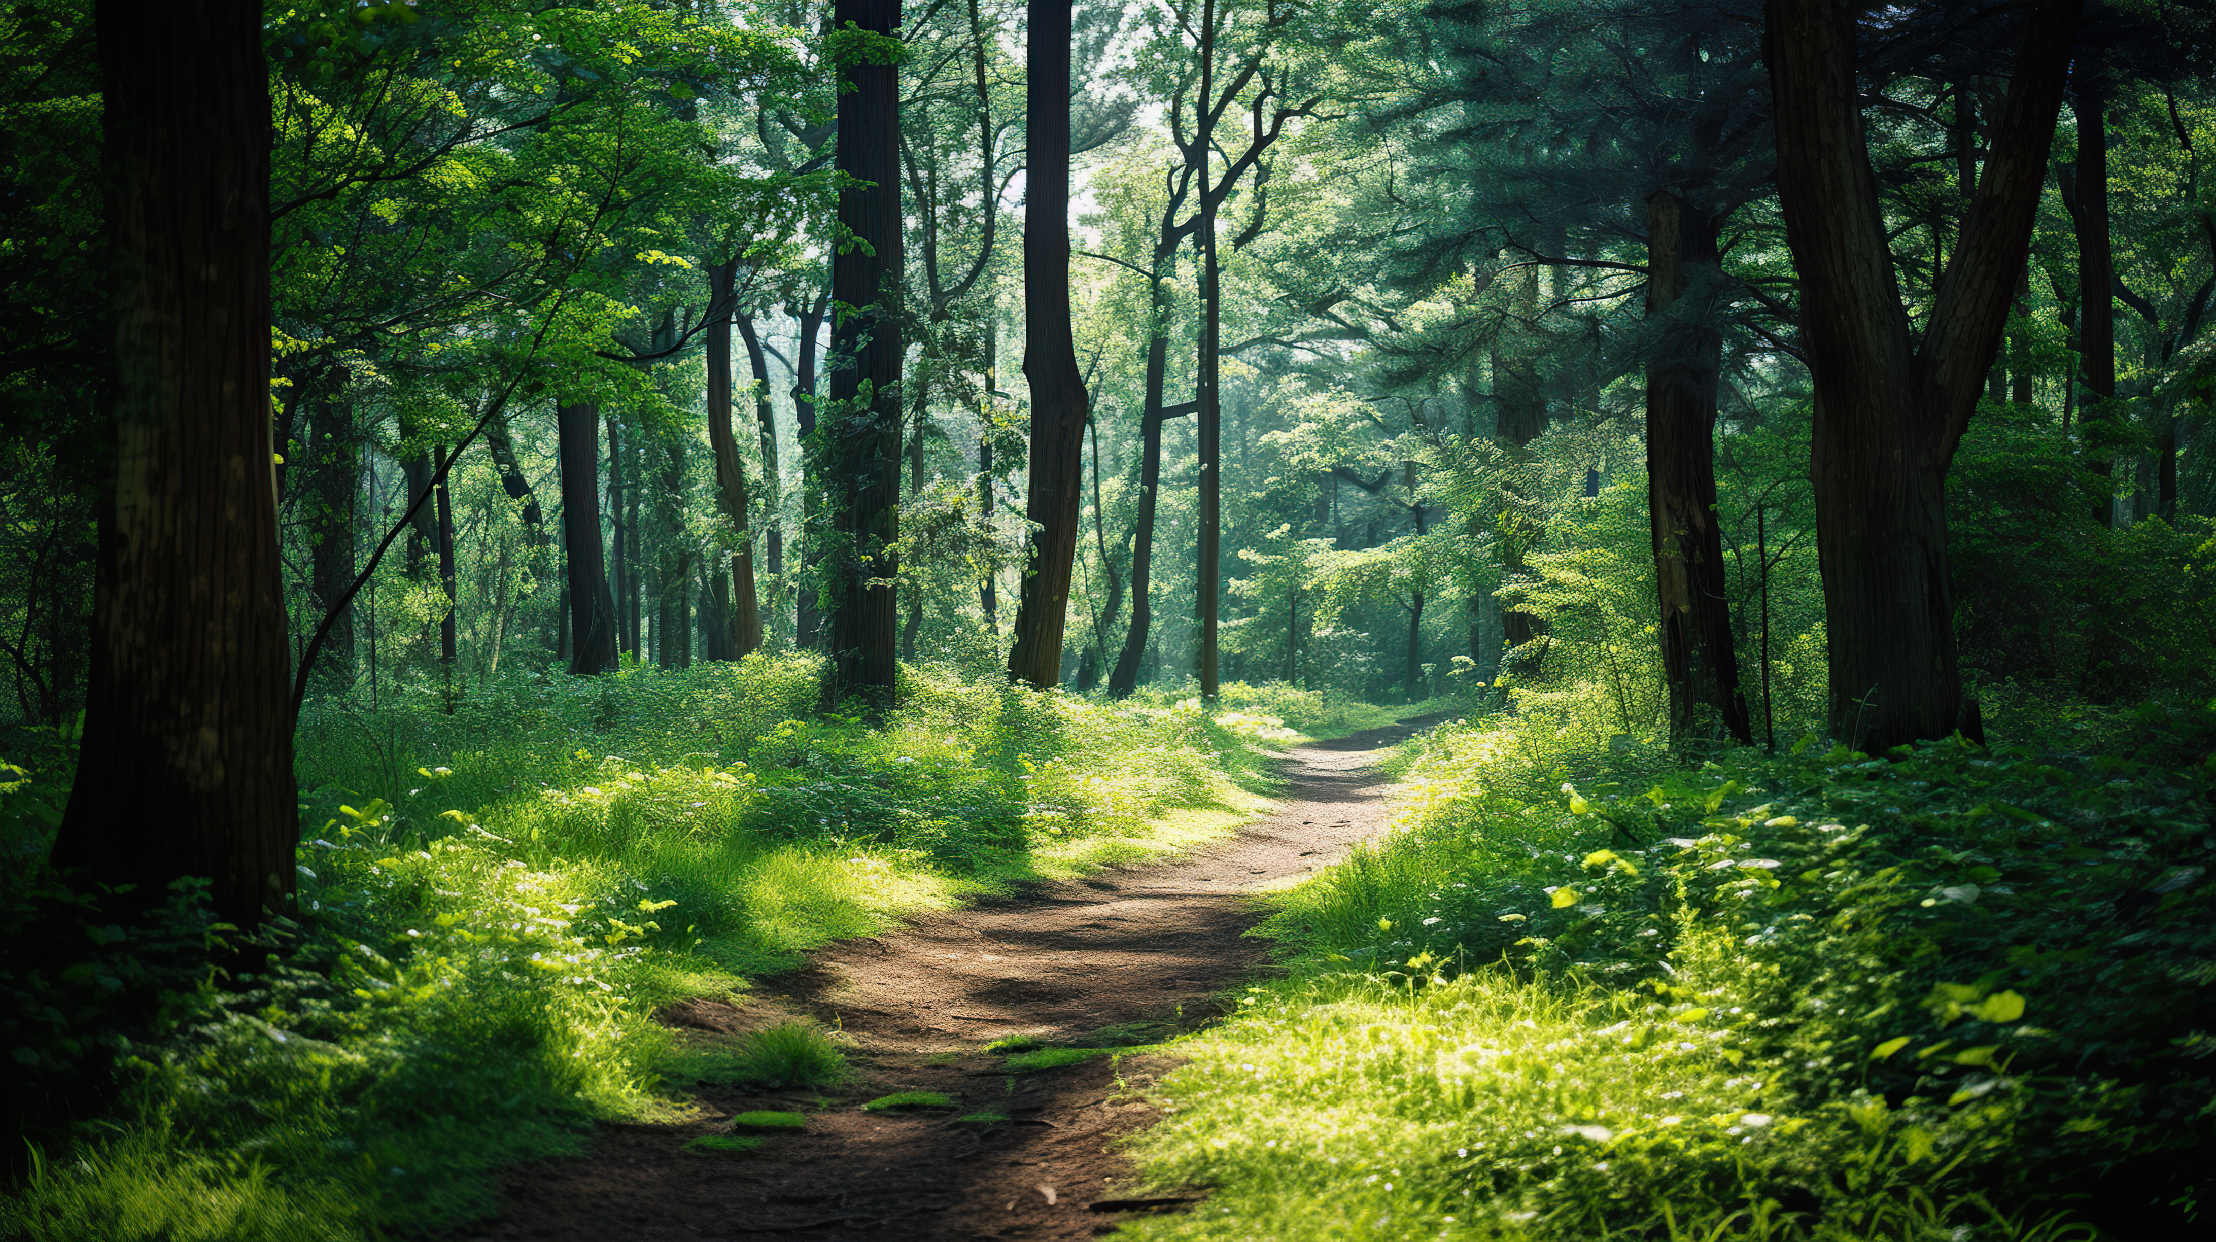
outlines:
{"label": "thick dark tree trunk in the left foreground, nearest the viewer", "polygon": [[53,861],[155,903],[293,905],[299,807],[270,470],[261,7],[100,0],[113,495],[86,727]]}

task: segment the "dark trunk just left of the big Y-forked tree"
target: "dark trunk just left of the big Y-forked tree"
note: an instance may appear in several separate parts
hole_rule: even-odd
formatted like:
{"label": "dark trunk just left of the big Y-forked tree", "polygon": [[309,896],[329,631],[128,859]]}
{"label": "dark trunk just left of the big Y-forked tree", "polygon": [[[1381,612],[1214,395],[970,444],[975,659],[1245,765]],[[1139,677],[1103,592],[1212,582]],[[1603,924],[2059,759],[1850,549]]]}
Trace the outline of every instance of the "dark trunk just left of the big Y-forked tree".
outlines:
{"label": "dark trunk just left of the big Y-forked tree", "polygon": [[1662,679],[1673,743],[1713,739],[1713,707],[1748,745],[1731,643],[1724,539],[1715,523],[1715,390],[1724,337],[1711,324],[1722,284],[1715,217],[1662,191],[1646,200],[1646,515],[1662,603]]}

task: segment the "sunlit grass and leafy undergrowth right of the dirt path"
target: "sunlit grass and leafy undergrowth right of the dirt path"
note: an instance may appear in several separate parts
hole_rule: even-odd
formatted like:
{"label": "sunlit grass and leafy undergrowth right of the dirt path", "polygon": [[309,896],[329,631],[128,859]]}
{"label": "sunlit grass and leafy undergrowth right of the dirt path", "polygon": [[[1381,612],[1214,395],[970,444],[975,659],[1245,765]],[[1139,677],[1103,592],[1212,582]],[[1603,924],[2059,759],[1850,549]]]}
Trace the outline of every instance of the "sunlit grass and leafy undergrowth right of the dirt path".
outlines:
{"label": "sunlit grass and leafy undergrowth right of the dirt path", "polygon": [[[1545,732],[1542,732],[1545,730]],[[1545,721],[1403,756],[1181,1040],[1139,1238],[2189,1235],[2216,1140],[2216,705],[2105,754],[1697,770]]]}

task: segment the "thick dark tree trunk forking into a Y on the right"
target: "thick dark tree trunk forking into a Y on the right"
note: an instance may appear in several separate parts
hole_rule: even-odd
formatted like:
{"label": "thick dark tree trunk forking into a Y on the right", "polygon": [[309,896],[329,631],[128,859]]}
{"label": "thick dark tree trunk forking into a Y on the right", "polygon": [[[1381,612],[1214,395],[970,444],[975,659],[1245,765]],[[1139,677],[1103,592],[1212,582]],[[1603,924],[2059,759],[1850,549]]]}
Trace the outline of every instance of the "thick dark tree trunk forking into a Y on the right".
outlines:
{"label": "thick dark tree trunk forking into a Y on the right", "polygon": [[2079,0],[2041,0],[1955,259],[1910,342],[1855,89],[1846,0],[1768,0],[1777,191],[1815,377],[1810,481],[1830,727],[1868,752],[1961,727],[1946,470],[2008,322],[2061,111]]}

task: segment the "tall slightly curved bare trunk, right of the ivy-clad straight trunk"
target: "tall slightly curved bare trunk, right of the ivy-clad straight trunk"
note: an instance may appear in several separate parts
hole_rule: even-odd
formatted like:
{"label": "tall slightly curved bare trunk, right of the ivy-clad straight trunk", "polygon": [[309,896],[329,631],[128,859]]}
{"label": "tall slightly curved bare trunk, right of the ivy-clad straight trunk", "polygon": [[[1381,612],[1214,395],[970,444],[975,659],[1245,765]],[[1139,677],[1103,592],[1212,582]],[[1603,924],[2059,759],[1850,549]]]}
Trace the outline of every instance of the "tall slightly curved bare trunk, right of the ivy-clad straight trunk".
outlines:
{"label": "tall slightly curved bare trunk, right of the ivy-clad straight trunk", "polygon": [[1070,0],[1030,0],[1028,38],[1024,377],[1030,381],[1030,481],[1024,517],[1037,532],[1017,592],[1008,676],[1048,690],[1061,681],[1086,452],[1086,381],[1070,330]]}

